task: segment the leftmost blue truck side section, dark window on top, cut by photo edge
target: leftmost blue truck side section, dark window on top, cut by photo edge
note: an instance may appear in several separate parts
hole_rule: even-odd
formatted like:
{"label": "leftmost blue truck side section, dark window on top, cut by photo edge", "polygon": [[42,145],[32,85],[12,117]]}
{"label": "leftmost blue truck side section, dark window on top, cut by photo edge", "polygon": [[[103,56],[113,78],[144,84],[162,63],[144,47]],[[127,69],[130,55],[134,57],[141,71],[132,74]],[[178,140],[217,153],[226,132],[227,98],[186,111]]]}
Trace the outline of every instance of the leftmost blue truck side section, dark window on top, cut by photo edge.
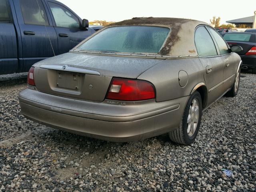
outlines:
{"label": "leftmost blue truck side section, dark window on top, cut by photo edge", "polygon": [[16,32],[10,4],[0,1],[0,74],[14,73],[18,70]]}

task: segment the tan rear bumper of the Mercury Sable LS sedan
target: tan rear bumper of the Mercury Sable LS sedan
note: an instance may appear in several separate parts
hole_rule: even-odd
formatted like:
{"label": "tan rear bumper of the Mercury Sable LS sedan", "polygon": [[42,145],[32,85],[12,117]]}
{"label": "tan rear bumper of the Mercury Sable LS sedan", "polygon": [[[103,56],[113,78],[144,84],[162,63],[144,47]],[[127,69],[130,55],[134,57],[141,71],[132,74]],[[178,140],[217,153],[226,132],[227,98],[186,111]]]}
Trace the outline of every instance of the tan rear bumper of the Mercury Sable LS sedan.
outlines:
{"label": "tan rear bumper of the Mercury Sable LS sedan", "polygon": [[166,102],[149,100],[120,106],[27,89],[20,92],[19,100],[22,114],[35,122],[92,138],[127,142],[178,128],[188,96]]}

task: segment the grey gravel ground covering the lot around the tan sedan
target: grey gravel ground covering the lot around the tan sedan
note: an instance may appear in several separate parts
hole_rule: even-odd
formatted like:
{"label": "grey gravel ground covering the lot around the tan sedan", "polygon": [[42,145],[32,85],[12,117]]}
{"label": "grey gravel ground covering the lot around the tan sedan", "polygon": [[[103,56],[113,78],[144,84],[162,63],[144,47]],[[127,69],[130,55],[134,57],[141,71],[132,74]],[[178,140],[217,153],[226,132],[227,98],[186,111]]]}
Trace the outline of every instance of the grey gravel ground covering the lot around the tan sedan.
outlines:
{"label": "grey gravel ground covering the lot around the tan sedan", "polygon": [[0,88],[0,191],[256,191],[256,75],[204,112],[191,146],[167,134],[113,143],[42,126],[20,114],[25,88]]}

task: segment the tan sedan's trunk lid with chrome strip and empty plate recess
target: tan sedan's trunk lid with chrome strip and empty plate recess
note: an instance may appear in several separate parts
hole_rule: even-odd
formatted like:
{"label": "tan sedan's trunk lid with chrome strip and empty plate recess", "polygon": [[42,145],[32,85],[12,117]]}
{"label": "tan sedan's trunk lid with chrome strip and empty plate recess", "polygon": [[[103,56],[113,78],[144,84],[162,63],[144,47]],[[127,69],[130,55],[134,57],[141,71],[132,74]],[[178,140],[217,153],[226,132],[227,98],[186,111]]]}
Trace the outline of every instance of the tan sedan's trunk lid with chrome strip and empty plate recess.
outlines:
{"label": "tan sedan's trunk lid with chrome strip and empty plate recess", "polygon": [[34,64],[40,92],[102,102],[112,77],[135,79],[163,59],[66,53]]}

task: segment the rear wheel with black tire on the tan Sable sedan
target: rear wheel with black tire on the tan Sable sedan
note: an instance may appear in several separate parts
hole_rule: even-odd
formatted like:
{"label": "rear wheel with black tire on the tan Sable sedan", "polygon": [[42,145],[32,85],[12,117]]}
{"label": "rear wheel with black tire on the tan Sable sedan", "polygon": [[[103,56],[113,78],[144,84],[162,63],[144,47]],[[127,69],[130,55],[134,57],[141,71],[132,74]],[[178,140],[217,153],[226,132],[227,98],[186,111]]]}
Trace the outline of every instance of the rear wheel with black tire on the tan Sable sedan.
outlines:
{"label": "rear wheel with black tire on the tan Sable sedan", "polygon": [[[194,115],[192,115],[191,113],[191,111],[194,111],[193,105],[195,100],[197,101],[197,106],[198,106],[198,116],[196,115],[197,114],[196,112],[194,112]],[[188,118],[189,116],[191,121],[189,121],[189,118]],[[196,120],[196,117],[197,117],[197,120]],[[194,140],[196,139],[196,135],[198,134],[198,130],[201,123],[201,117],[202,117],[202,98],[200,93],[198,91],[195,91],[188,99],[179,128],[169,132],[170,140],[172,140],[175,143],[179,143],[183,145],[192,144],[192,142],[194,142]],[[197,121],[197,124],[193,123],[194,131],[191,129],[191,126],[190,126],[189,130],[191,130],[191,132],[190,131],[188,132],[188,126],[189,126],[189,123],[191,125],[192,120],[193,122]]]}

